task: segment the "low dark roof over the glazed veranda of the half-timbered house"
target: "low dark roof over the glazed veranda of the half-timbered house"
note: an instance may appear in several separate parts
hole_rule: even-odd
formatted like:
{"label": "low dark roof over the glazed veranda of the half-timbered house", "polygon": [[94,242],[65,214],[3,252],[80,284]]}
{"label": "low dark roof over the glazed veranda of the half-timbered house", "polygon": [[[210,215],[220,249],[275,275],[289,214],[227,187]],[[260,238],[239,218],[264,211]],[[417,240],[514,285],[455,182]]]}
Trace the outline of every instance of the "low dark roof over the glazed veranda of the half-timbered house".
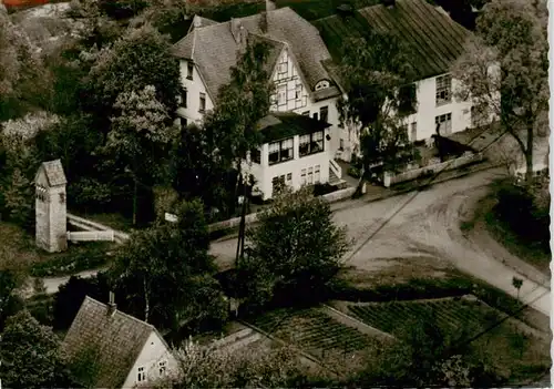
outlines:
{"label": "low dark roof over the glazed veranda of the half-timbered house", "polygon": [[329,123],[294,112],[273,112],[258,121],[257,124],[258,131],[261,132],[263,143],[305,135],[329,126]]}

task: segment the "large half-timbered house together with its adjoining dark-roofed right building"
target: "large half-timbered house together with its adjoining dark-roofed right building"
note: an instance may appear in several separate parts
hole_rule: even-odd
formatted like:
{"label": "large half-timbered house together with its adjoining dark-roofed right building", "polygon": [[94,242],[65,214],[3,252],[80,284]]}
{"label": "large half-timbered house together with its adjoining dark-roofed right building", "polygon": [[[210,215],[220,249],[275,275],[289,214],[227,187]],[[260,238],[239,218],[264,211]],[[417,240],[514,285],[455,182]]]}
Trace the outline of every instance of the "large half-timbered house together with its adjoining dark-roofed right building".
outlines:
{"label": "large half-timbered house together with its adjoining dark-roofed right building", "polygon": [[[355,131],[339,125],[337,101],[343,91],[330,70],[334,62],[340,61],[334,45],[340,45],[357,28],[398,34],[418,60],[417,111],[407,120],[410,141],[428,140],[437,127],[441,135],[449,135],[474,125],[471,102],[455,101],[455,80],[448,73],[471,32],[425,0],[389,2],[391,6],[368,7],[352,11],[350,18],[338,14],[314,24],[288,7],[276,9],[270,0],[266,0],[265,12],[227,22],[194,17],[187,34],[173,47],[184,88],[177,110],[181,125],[202,122],[216,104],[219,89],[230,81],[230,68],[236,65],[247,39],[259,39],[270,48],[267,70],[275,83],[270,111],[306,115],[328,126],[314,133],[317,140],[308,140],[311,132],[307,134],[306,129],[287,139],[275,139],[271,132],[274,135],[254,153],[259,153],[255,158],[260,162],[245,165],[252,166],[256,192],[267,199],[275,185],[283,182],[294,188],[304,183],[342,183],[342,171],[335,158],[350,161],[352,154],[359,153],[359,140]],[[331,39],[328,30],[332,31]],[[291,123],[278,115],[266,120],[280,121],[279,127]],[[308,158],[301,150],[314,142],[322,142],[322,147],[310,152]]]}

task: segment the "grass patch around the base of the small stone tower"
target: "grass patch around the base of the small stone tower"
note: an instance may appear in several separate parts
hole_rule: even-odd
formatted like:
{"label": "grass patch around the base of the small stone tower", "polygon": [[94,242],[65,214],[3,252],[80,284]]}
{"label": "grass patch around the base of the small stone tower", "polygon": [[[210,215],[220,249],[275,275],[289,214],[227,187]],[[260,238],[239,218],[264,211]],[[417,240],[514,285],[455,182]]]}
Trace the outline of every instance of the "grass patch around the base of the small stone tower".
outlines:
{"label": "grass patch around the base of the small stone tower", "polygon": [[45,253],[34,236],[13,224],[0,222],[0,267],[28,272],[33,277],[64,276],[106,265],[110,242],[69,244],[63,253]]}

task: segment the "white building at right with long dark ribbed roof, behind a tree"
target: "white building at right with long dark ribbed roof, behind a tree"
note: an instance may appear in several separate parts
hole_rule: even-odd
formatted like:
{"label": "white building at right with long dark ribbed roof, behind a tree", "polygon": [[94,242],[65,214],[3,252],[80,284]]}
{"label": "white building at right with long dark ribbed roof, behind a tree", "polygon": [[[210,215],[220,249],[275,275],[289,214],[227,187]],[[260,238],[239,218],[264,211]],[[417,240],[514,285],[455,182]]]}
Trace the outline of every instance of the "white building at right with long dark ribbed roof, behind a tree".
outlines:
{"label": "white building at right with long dark ribbed roof, behind a tree", "polygon": [[[412,58],[411,65],[418,79],[417,110],[406,120],[412,142],[430,139],[437,131],[449,135],[478,124],[471,102],[454,99],[456,80],[449,74],[451,65],[463,54],[471,32],[441,9],[425,0],[389,0],[387,4],[319,19],[314,24],[335,64],[340,61],[345,41],[361,37],[369,29],[394,34],[400,40]],[[345,144],[342,158],[349,160],[358,152],[359,141],[347,130],[340,139]]]}

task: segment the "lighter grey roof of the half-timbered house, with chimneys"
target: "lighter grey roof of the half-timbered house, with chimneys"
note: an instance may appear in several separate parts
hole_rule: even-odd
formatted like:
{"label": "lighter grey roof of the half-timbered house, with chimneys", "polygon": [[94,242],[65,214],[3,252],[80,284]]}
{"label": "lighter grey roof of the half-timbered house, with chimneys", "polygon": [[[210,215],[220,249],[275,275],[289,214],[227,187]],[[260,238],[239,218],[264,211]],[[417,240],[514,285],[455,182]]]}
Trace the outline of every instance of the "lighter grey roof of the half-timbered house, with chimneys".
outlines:
{"label": "lighter grey roof of the half-timbered house, with chimneys", "polygon": [[[261,18],[267,18],[267,32],[261,30]],[[321,61],[330,54],[317,29],[290,8],[235,19],[249,34],[285,43],[296,59],[310,90],[321,80],[331,81]],[[230,21],[196,27],[174,44],[175,57],[193,60],[208,84],[209,93],[217,95],[218,88],[229,81],[230,66],[236,65],[238,45],[230,32]]]}

